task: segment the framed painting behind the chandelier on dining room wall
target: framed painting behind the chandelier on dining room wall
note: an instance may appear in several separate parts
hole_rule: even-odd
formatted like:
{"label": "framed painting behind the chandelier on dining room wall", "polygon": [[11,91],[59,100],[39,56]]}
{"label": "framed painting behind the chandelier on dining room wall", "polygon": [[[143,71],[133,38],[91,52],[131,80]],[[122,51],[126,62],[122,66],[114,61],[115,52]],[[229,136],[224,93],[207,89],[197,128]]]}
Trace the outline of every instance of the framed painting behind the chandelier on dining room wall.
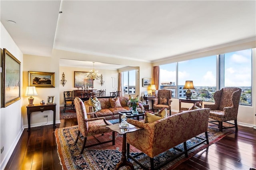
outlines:
{"label": "framed painting behind the chandelier on dining room wall", "polygon": [[88,72],[74,71],[74,87],[80,88],[83,86],[93,88],[93,80],[87,78]]}

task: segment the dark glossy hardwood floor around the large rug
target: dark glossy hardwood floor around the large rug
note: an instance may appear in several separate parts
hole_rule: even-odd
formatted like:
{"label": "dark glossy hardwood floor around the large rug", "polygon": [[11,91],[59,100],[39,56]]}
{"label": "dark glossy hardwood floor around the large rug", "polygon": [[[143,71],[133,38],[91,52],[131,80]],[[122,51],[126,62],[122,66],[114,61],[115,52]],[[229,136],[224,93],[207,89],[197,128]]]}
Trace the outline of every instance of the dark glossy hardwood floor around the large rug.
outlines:
{"label": "dark glossy hardwood floor around the large rug", "polygon": [[[77,125],[76,118],[61,120],[57,127],[73,125]],[[30,132],[26,130],[5,169],[61,170],[52,125],[34,127]],[[256,167],[256,130],[239,126],[237,133],[225,136],[175,169],[249,170],[250,167]]]}

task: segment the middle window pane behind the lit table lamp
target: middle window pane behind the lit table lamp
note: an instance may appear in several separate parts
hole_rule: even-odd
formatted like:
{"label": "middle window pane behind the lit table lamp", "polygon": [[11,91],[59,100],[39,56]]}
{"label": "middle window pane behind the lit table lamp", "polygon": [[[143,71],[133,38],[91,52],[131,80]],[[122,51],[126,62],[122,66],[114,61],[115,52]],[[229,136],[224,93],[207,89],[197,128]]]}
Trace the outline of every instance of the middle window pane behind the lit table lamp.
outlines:
{"label": "middle window pane behind the lit table lamp", "polygon": [[[196,89],[190,89],[192,99],[213,101],[216,91],[216,55],[178,62],[178,88],[183,89],[186,80],[192,80]],[[186,90],[181,95],[186,97]]]}

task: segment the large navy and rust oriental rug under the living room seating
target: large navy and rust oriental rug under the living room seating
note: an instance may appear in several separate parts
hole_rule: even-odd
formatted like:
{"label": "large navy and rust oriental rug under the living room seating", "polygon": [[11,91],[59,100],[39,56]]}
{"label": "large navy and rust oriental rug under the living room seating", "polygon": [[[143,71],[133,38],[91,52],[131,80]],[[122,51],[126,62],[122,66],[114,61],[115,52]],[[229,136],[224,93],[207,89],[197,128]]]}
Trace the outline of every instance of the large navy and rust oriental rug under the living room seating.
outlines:
{"label": "large navy and rust oriental rug under the living room seating", "polygon": [[[117,135],[116,133],[116,142],[115,145],[112,145],[112,142],[101,144],[98,146],[93,146],[90,148],[84,149],[83,154],[80,154],[80,150],[82,148],[82,142],[78,140],[78,142],[75,144],[76,136],[78,133],[78,126],[72,126],[72,127],[64,127],[64,128],[57,128],[55,130],[55,137],[56,137],[56,143],[57,143],[57,150],[58,155],[60,158],[60,163],[62,164],[63,170],[113,170],[116,167],[116,164],[121,159],[122,156],[122,135]],[[180,156],[179,158],[176,158],[174,161],[170,162],[169,164],[162,167],[162,170],[171,170],[184,162],[185,160],[188,160],[193,155],[195,155],[200,150],[203,150],[204,148],[207,148],[214,142],[217,142],[227,134],[232,133],[231,131],[224,131],[219,132],[217,129],[208,127],[208,138],[209,143],[201,144],[200,146],[190,150],[188,152],[188,158],[185,157],[184,154]],[[198,135],[199,137],[204,138],[204,133]],[[100,141],[104,140],[110,140],[112,138],[112,133],[106,133],[103,136],[98,135],[97,138],[100,139]],[[86,145],[93,144],[96,142],[93,136],[90,136],[87,139]],[[191,138],[187,141],[187,145],[192,146],[193,144],[200,142],[200,139],[198,138]],[[183,144],[179,144],[176,146],[178,148],[183,149]],[[140,150],[134,148],[130,145],[130,153],[135,154],[140,152]],[[177,150],[170,149],[166,152],[163,152],[162,154],[159,154],[154,158],[154,164],[155,166],[158,166],[159,164],[162,164],[165,162],[166,159],[170,158],[170,156],[174,156],[178,153]],[[142,168],[136,164],[134,161],[128,159],[132,164],[134,165],[134,169],[141,170]],[[138,160],[142,162],[142,164],[150,167],[150,159],[146,154],[142,154],[140,157],[138,157]],[[129,170],[129,167],[122,167],[121,170]]]}

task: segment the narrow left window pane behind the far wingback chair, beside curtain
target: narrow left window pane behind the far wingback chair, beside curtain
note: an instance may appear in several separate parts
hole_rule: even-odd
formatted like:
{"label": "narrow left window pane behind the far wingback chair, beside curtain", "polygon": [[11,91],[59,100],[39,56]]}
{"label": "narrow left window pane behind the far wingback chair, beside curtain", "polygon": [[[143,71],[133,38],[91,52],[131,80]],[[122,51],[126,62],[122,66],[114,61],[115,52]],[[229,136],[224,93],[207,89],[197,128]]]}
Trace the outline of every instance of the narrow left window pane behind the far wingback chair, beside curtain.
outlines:
{"label": "narrow left window pane behind the far wingback chair, beside curtain", "polygon": [[176,63],[160,65],[160,89],[171,89],[176,97]]}

